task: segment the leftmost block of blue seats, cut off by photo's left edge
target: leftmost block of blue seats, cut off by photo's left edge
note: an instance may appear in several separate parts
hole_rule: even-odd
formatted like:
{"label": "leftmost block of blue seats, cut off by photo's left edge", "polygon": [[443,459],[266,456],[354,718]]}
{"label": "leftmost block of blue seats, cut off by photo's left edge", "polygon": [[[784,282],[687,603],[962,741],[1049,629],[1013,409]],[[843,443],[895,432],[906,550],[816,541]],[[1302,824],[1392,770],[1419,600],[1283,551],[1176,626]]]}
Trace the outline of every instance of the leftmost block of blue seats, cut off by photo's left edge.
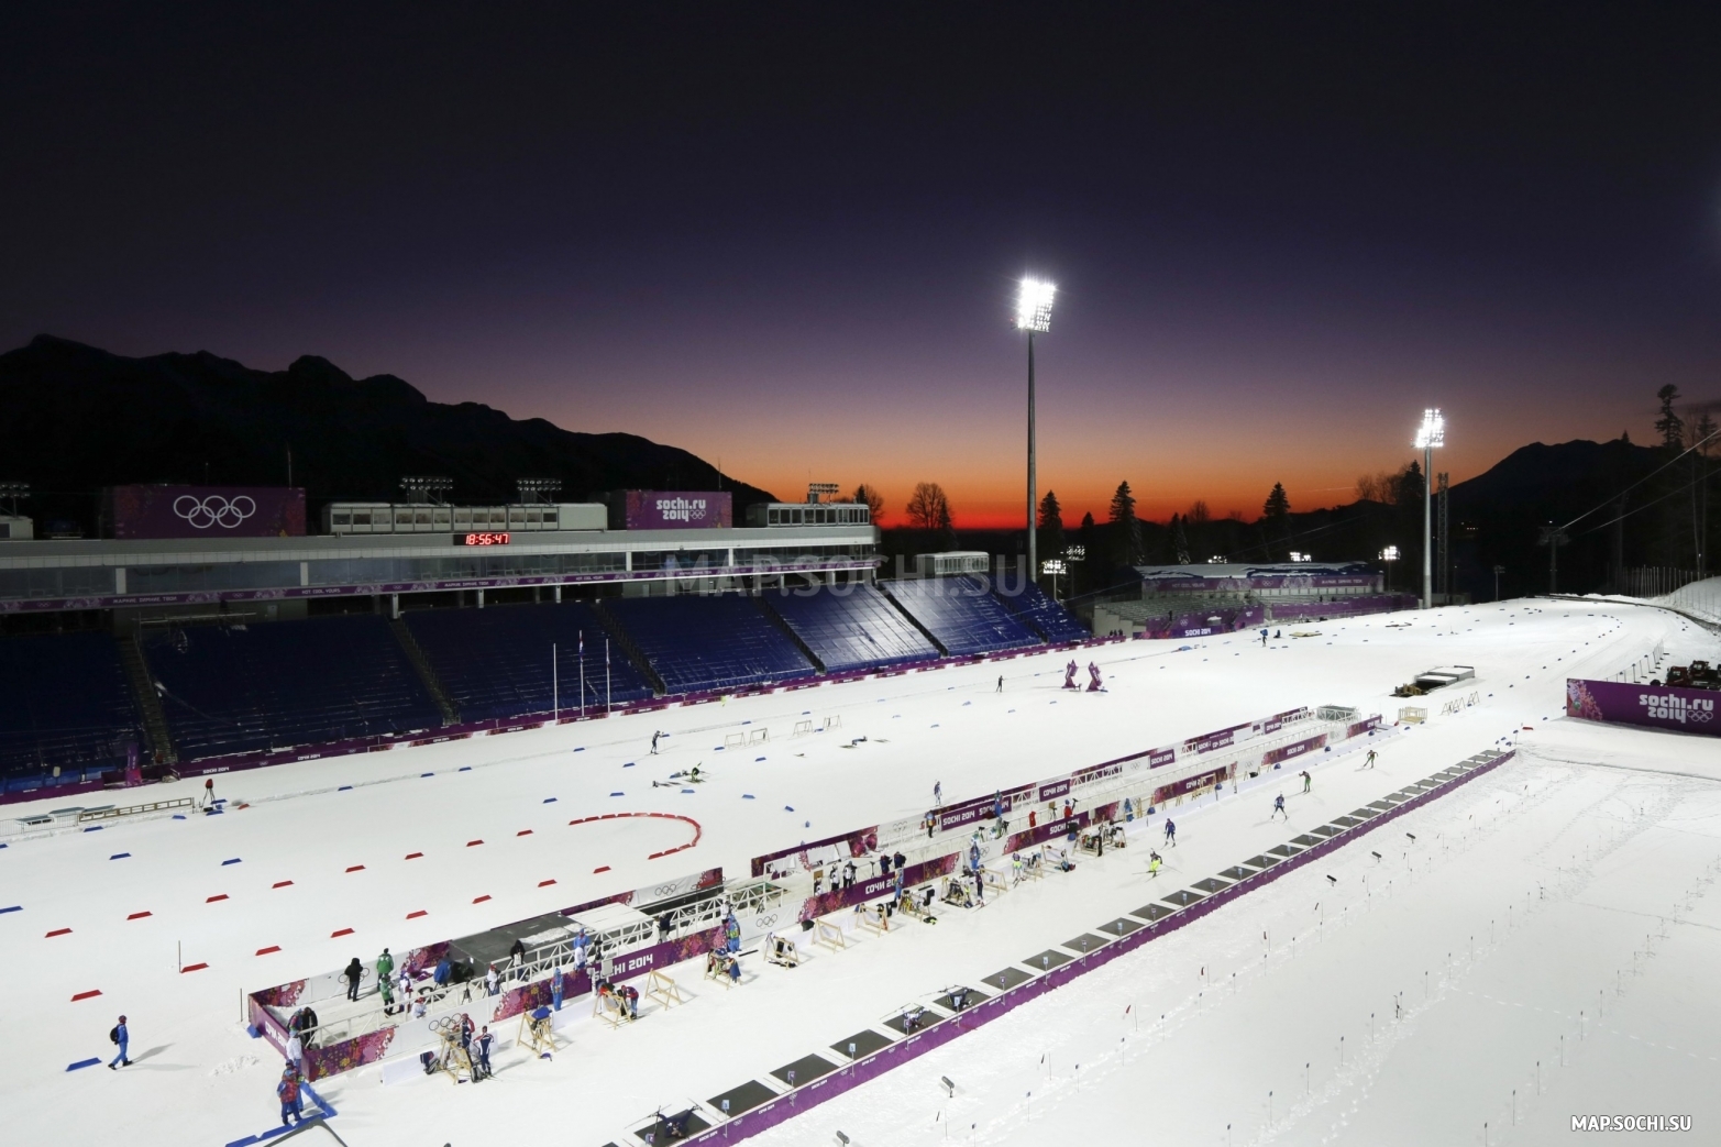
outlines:
{"label": "leftmost block of blue seats, cut off by photo's left edge", "polygon": [[124,765],[127,741],[143,723],[112,634],[0,637],[0,778],[79,780]]}

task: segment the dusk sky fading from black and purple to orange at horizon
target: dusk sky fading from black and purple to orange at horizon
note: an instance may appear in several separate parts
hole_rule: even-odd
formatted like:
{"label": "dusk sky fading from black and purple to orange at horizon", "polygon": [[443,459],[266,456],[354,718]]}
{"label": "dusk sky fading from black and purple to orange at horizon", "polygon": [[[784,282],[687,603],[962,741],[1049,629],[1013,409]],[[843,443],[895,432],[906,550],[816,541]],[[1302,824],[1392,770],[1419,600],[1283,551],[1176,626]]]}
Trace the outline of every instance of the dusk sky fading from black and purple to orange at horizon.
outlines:
{"label": "dusk sky fading from black and purple to orange at horizon", "polygon": [[[34,10],[26,10],[34,9]],[[355,14],[351,9],[363,9]],[[843,19],[848,17],[848,19]],[[900,522],[1721,398],[1712,3],[7,5],[0,348],[324,355]]]}

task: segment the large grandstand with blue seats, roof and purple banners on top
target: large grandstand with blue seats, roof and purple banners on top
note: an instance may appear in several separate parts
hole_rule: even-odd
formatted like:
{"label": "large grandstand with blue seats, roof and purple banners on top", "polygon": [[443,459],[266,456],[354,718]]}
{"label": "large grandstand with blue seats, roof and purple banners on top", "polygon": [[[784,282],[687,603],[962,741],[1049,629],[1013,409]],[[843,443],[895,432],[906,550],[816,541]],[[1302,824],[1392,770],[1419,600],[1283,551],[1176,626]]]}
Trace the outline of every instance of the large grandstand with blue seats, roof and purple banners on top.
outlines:
{"label": "large grandstand with blue seats, roof and purple banners on top", "polygon": [[437,479],[404,484],[411,501],[317,517],[299,489],[119,487],[103,537],[9,530],[3,792],[1089,637],[1036,586],[990,579],[984,555],[879,580],[864,503],[752,506],[737,527],[723,493],[446,506]]}

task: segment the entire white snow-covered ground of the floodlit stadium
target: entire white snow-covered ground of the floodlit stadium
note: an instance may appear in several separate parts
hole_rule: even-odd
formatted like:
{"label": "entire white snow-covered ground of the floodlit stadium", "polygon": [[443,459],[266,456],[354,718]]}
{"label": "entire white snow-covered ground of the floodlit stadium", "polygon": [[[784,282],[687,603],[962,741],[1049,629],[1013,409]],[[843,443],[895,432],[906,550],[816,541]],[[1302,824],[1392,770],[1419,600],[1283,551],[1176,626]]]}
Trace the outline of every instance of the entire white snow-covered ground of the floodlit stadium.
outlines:
{"label": "entire white snow-covered ground of the floodlit stadium", "polygon": [[[683,966],[687,1004],[647,1008],[620,1032],[577,1018],[554,1061],[504,1047],[494,1087],[382,1087],[377,1068],[329,1080],[318,1090],[341,1113],[332,1126],[351,1147],[458,1147],[546,1121],[556,1140],[623,1142],[659,1106],[766,1076],[1502,737],[1520,746],[1513,763],[757,1142],[824,1144],[842,1128],[874,1147],[1150,1132],[1220,1144],[1229,1125],[1236,1144],[1468,1144],[1484,1123],[1489,1142],[1542,1142],[1590,1111],[1714,1126],[1721,1102],[1702,1083],[1721,1035],[1702,971],[1721,954],[1721,901],[1707,896],[1721,742],[1561,716],[1568,675],[1607,677],[1657,642],[1676,661],[1721,660],[1714,637],[1661,610],[1573,601],[1296,632],[1315,629],[1292,639],[1287,627],[1267,649],[1243,636],[1098,649],[1105,694],[1058,691],[1067,658],[1041,654],[256,770],[217,780],[248,804],[222,816],[10,837],[0,908],[21,911],[0,913],[7,1137],[76,1142],[124,1118],[136,1144],[244,1138],[275,1123],[279,1068],[244,1033],[246,990],[714,865],[743,875],[754,854],[914,816],[935,780],[947,797],[978,796],[1299,704],[1391,722],[1401,703],[1387,691],[1444,663],[1477,666],[1465,691],[1480,704],[1385,741],[1377,770],[1360,754],[1323,758],[1308,796],[1280,773],[1177,809],[1179,847],[1153,885],[1131,847],[986,909],[947,909],[936,927],[857,935],[793,971],[747,961],[750,980],[733,990]],[[826,716],[842,718],[835,734],[790,735]],[[719,751],[743,722],[771,741]],[[656,728],[669,737],[654,758]],[[855,737],[867,741],[843,747]],[[695,761],[712,777],[697,794],[652,787]],[[1280,787],[1289,827],[1268,822]],[[690,830],[568,827],[604,811],[692,816],[700,844],[651,861]],[[207,968],[179,971],[193,963]],[[72,1001],[88,990],[102,994]],[[67,1073],[112,1056],[122,1011],[136,1066]],[[511,1044],[513,1023],[503,1035]],[[957,1083],[953,1099],[940,1076]]]}

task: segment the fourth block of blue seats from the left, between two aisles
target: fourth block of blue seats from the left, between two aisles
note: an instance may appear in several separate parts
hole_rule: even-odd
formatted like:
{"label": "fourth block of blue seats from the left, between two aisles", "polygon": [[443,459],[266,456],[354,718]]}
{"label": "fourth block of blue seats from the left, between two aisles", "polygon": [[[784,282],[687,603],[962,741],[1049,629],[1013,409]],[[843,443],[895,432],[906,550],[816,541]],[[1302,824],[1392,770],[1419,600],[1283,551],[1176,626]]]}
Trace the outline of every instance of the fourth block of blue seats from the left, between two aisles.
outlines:
{"label": "fourth block of blue seats from the left, between two aisles", "polygon": [[738,594],[613,598],[604,610],[669,692],[742,689],[817,672],[752,599]]}

